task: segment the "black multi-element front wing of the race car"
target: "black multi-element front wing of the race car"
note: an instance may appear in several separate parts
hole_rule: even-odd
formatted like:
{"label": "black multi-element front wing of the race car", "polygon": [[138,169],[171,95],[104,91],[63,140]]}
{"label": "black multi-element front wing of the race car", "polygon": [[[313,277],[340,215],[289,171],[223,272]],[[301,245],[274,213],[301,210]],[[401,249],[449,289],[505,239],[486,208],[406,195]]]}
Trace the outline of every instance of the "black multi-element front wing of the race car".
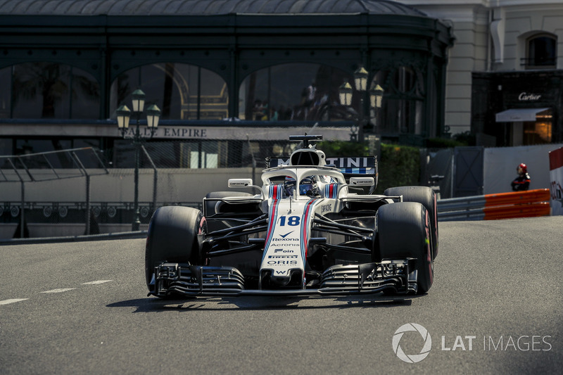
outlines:
{"label": "black multi-element front wing of the race car", "polygon": [[334,265],[316,285],[303,288],[246,289],[243,274],[234,267],[162,263],[155,267],[155,288],[149,295],[186,297],[238,295],[358,295],[391,290],[398,294],[417,292],[415,259],[381,263]]}

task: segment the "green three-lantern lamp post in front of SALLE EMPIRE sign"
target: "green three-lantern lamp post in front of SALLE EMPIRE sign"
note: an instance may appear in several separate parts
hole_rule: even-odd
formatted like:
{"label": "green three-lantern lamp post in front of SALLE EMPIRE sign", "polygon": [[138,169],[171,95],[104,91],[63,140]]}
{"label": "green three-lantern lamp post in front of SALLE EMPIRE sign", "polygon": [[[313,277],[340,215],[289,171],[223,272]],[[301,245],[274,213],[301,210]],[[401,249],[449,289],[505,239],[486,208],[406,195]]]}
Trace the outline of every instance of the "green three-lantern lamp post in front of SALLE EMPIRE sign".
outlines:
{"label": "green three-lantern lamp post in front of SALLE EMPIRE sign", "polygon": [[135,193],[133,206],[134,216],[131,230],[138,231],[141,226],[141,220],[139,220],[139,154],[141,150],[141,144],[143,144],[145,139],[151,139],[156,132],[156,128],[158,127],[158,120],[160,118],[160,109],[156,106],[156,104],[153,104],[146,109],[146,125],[148,129],[151,130],[151,134],[147,136],[145,134],[141,135],[141,114],[143,113],[145,105],[145,93],[140,89],[137,89],[133,91],[131,96],[133,115],[137,120],[137,126],[135,127],[132,135],[127,134],[127,129],[129,128],[129,118],[131,117],[131,110],[129,110],[127,106],[122,105],[118,108],[117,115],[118,129],[120,129],[121,131],[121,136],[123,137],[123,139],[132,139],[132,143],[135,148]]}

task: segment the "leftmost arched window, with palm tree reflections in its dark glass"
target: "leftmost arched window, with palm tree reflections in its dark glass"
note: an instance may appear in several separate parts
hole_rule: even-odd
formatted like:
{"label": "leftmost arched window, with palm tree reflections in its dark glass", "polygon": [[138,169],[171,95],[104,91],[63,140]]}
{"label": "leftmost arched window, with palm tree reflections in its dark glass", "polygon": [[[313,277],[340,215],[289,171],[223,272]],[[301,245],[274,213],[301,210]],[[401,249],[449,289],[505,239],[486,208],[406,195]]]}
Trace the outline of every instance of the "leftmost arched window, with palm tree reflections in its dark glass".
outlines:
{"label": "leftmost arched window, with palm tree reflections in its dark glass", "polygon": [[98,119],[100,86],[79,68],[51,62],[0,70],[0,117]]}

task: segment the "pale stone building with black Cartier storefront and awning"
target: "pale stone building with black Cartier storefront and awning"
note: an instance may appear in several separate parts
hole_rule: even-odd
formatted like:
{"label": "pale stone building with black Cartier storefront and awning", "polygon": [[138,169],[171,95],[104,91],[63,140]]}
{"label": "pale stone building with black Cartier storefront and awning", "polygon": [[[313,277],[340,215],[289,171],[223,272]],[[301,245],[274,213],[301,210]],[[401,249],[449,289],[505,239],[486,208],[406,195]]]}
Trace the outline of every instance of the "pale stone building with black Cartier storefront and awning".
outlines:
{"label": "pale stone building with black Cartier storefront and awning", "polygon": [[398,0],[451,25],[445,126],[478,144],[563,141],[563,2]]}

